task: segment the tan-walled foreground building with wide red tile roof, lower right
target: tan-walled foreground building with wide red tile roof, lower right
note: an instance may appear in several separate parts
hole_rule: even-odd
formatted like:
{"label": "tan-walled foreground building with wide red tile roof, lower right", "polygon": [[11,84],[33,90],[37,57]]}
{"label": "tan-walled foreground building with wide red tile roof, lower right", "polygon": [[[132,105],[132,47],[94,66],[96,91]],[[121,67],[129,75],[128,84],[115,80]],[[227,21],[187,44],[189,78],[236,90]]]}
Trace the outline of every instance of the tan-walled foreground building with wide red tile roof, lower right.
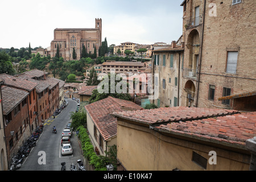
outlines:
{"label": "tan-walled foreground building with wide red tile roof, lower right", "polygon": [[117,119],[117,169],[248,171],[255,114],[183,106],[117,110],[110,114]]}

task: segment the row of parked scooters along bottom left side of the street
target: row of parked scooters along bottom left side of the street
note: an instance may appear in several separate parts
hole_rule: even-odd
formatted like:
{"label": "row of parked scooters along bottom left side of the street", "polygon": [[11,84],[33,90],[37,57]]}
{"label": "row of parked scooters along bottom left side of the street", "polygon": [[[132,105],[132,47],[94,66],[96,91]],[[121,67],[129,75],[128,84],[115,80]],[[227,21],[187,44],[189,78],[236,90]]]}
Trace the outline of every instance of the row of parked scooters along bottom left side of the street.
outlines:
{"label": "row of parked scooters along bottom left side of the street", "polygon": [[11,159],[11,171],[19,169],[22,166],[24,158],[30,154],[31,148],[36,146],[36,141],[40,137],[40,134],[43,133],[43,127],[43,125],[36,127],[35,132],[27,139],[24,145],[19,148],[17,154],[13,156]]}

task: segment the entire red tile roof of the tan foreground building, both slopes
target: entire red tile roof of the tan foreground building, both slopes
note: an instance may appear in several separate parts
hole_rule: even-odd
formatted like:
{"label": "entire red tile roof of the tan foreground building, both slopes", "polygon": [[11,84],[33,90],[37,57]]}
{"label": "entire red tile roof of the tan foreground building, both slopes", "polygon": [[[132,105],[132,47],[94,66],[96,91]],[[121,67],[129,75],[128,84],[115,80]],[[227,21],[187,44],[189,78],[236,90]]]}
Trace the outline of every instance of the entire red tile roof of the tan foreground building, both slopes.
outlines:
{"label": "entire red tile roof of the tan foreground building, both slopes", "polygon": [[151,129],[214,143],[240,144],[256,136],[256,112],[199,107],[122,111],[115,117],[151,125]]}

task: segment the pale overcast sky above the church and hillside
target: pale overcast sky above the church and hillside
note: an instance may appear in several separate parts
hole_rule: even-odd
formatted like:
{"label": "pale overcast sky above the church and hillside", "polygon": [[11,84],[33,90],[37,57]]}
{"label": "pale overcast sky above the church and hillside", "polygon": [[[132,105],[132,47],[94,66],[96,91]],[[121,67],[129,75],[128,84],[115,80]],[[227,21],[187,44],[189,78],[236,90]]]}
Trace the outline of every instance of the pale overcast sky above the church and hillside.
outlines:
{"label": "pale overcast sky above the church and hillside", "polygon": [[55,28],[94,28],[102,19],[102,41],[171,43],[182,34],[183,0],[0,1],[0,48],[47,48]]}

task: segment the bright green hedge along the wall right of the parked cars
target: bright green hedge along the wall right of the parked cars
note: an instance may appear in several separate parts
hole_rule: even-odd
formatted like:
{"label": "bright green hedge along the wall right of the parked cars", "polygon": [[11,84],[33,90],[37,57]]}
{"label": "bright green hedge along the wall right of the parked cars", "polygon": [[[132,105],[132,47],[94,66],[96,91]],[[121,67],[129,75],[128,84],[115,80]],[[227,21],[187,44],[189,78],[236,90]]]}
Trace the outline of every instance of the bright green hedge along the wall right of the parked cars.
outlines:
{"label": "bright green hedge along the wall right of the parked cars", "polygon": [[88,159],[89,164],[95,167],[95,171],[106,171],[106,165],[104,159],[94,152],[93,144],[90,143],[90,138],[86,132],[86,129],[83,126],[77,128],[79,131],[78,138],[82,144],[82,151],[84,157]]}

